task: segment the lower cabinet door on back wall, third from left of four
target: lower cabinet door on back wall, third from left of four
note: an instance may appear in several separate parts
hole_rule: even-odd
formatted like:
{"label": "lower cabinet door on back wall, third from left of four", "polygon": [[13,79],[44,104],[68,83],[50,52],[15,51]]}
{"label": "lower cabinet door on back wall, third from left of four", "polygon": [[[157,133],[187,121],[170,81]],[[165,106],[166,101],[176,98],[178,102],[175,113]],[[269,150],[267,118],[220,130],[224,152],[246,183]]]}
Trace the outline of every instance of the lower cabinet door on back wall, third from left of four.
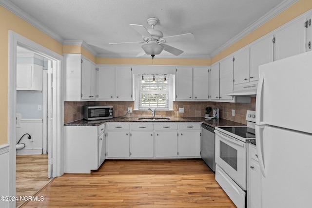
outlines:
{"label": "lower cabinet door on back wall, third from left of four", "polygon": [[177,132],[155,132],[155,156],[177,157]]}

